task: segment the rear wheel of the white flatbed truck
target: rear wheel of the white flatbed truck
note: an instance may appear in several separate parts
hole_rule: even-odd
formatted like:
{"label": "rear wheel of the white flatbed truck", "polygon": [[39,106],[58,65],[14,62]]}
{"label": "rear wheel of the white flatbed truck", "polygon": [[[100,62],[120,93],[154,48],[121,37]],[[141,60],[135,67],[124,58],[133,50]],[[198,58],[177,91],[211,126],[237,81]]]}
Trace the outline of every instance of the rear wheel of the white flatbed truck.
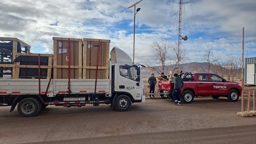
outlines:
{"label": "rear wheel of the white flatbed truck", "polygon": [[35,98],[24,98],[18,105],[18,112],[24,117],[33,117],[39,113],[42,105]]}

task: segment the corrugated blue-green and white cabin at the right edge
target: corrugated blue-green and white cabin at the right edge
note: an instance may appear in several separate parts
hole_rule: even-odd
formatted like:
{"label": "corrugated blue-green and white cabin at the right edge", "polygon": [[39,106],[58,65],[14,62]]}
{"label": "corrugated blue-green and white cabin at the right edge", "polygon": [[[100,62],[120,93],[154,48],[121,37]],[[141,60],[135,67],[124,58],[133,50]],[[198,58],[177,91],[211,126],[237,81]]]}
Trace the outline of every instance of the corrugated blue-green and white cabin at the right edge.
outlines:
{"label": "corrugated blue-green and white cabin at the right edge", "polygon": [[256,85],[256,57],[245,58],[244,84]]}

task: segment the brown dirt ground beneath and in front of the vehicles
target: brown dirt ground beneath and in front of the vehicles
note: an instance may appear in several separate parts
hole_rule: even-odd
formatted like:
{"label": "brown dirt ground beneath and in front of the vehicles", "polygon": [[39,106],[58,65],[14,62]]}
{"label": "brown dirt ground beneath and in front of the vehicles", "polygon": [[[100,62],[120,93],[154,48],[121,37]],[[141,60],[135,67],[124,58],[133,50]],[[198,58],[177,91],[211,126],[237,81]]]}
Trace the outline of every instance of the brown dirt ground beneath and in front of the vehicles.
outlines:
{"label": "brown dirt ground beneath and in front of the vehicles", "polygon": [[130,111],[110,105],[48,106],[33,118],[0,107],[0,144],[255,144],[256,116],[236,116],[241,100],[146,99]]}

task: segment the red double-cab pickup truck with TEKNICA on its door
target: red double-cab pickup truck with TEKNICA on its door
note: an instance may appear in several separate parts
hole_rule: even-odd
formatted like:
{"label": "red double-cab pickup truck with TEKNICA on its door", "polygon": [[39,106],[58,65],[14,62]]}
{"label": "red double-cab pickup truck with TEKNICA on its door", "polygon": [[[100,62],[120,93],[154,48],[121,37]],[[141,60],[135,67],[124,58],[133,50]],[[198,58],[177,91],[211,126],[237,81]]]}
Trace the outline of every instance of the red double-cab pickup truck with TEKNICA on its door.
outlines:
{"label": "red double-cab pickup truck with TEKNICA on its door", "polygon": [[[213,73],[185,72],[182,80],[184,87],[181,89],[183,103],[191,103],[196,96],[212,96],[212,98],[227,97],[229,101],[237,101],[242,93],[242,87],[236,82],[226,81]],[[174,83],[171,81],[158,82],[158,93],[162,98],[172,98]]]}

